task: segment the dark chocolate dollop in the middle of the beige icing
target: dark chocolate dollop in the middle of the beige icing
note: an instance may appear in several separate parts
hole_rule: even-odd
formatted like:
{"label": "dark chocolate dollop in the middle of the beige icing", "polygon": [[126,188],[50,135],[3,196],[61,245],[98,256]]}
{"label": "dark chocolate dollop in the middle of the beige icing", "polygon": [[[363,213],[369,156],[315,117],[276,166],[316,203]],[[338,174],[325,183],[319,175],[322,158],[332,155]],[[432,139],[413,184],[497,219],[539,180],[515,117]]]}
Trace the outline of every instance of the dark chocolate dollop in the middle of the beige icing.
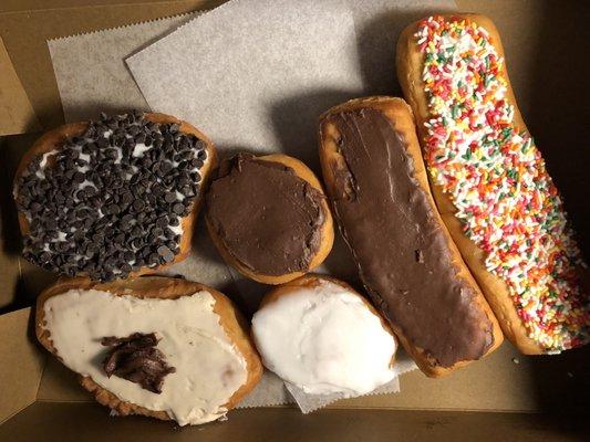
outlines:
{"label": "dark chocolate dollop in the middle of the beige icing", "polygon": [[164,377],[176,369],[166,364],[164,355],[156,348],[157,343],[154,333],[134,333],[126,338],[102,338],[101,344],[111,347],[103,361],[106,376],[118,376],[159,394]]}

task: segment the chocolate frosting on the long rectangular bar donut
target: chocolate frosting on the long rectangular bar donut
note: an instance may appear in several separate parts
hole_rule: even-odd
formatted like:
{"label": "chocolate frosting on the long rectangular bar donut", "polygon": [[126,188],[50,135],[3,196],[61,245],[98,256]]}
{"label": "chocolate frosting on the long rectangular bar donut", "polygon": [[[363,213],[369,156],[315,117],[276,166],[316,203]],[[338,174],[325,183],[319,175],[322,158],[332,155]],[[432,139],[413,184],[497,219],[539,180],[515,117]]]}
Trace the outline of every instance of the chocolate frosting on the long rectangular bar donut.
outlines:
{"label": "chocolate frosting on the long rectangular bar donut", "polygon": [[401,135],[377,109],[328,119],[344,158],[330,165],[335,180],[328,192],[373,302],[435,365],[478,359],[494,341],[491,324],[457,276]]}

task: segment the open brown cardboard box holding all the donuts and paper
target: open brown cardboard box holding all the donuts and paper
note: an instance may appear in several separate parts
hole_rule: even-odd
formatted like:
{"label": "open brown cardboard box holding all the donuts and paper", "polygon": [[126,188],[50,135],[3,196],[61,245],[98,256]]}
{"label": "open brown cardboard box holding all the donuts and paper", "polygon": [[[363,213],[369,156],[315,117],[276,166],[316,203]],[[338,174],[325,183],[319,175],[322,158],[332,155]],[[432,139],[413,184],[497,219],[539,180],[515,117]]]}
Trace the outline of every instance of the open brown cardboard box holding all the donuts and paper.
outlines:
{"label": "open brown cardboard box holding all the donuts and paper", "polygon": [[[31,334],[37,294],[52,275],[20,259],[11,181],[22,152],[62,123],[45,40],[211,8],[199,0],[4,0],[0,4],[0,440],[588,440],[588,348],[525,357],[505,343],[483,361],[433,380],[418,371],[402,392],[341,401],[302,415],[294,408],[237,410],[228,422],[176,429],[115,419]],[[582,250],[590,250],[586,77],[589,8],[582,2],[458,0],[490,15],[503,34],[521,112],[562,191]],[[6,50],[4,50],[6,48]],[[586,94],[586,95],[584,95]],[[584,438],[586,435],[586,438]]]}

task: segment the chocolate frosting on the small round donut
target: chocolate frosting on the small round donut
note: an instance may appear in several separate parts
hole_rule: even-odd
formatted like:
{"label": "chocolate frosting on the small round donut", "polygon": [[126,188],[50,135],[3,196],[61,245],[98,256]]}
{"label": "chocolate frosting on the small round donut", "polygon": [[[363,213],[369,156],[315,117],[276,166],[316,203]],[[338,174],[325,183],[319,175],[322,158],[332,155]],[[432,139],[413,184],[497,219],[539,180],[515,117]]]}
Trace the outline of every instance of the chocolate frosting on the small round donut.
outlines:
{"label": "chocolate frosting on the small round donut", "polygon": [[323,198],[292,168],[238,154],[211,183],[207,219],[231,256],[252,272],[304,272],[320,248]]}

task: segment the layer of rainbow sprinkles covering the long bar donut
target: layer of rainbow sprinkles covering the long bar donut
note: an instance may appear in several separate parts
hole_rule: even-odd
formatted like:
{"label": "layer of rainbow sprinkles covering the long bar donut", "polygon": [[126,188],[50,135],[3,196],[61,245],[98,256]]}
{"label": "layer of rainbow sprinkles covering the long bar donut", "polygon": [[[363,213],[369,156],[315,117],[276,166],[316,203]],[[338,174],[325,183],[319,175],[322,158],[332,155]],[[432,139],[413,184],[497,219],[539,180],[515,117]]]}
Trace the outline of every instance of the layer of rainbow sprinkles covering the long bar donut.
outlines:
{"label": "layer of rainbow sprinkles covering the long bar donut", "polygon": [[586,267],[531,136],[513,123],[504,60],[485,29],[431,17],[415,34],[431,119],[425,160],[465,234],[508,286],[528,335],[547,351],[590,340]]}

